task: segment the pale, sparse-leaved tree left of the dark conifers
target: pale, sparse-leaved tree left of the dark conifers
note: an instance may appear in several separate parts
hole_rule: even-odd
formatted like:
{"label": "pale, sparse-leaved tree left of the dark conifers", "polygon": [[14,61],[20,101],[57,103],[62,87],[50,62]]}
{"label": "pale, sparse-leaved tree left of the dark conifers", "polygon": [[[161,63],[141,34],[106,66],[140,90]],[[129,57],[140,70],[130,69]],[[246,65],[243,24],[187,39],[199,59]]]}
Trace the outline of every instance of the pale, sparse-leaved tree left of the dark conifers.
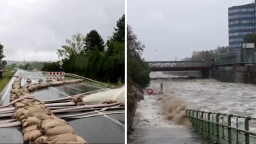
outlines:
{"label": "pale, sparse-leaved tree left of the dark conifers", "polygon": [[67,39],[68,45],[61,46],[62,49],[57,49],[57,55],[61,59],[70,58],[71,55],[78,55],[83,52],[83,44],[85,36],[81,33],[72,35],[71,39]]}

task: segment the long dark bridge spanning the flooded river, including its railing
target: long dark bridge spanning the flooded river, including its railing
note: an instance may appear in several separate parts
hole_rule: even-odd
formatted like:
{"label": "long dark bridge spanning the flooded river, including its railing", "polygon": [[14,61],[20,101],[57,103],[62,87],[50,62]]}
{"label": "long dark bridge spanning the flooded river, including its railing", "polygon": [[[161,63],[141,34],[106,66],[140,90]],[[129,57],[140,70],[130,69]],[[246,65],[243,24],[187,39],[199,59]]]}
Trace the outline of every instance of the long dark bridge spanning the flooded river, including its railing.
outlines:
{"label": "long dark bridge spanning the flooded river, including its railing", "polygon": [[147,61],[151,72],[158,71],[208,71],[211,61]]}

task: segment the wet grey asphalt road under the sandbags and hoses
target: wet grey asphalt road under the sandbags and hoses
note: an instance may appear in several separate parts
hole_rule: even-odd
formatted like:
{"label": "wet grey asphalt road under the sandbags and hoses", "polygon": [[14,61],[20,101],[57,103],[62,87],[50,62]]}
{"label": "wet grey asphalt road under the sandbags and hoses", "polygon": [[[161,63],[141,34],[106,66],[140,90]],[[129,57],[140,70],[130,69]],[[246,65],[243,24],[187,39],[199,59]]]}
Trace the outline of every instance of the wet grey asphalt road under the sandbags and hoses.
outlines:
{"label": "wet grey asphalt road under the sandbags and hoses", "polygon": [[[25,71],[20,70],[18,73],[19,72],[22,73]],[[34,77],[38,78],[37,76]],[[15,78],[12,78],[8,85],[12,85],[14,80]],[[54,100],[87,91],[94,91],[96,89],[98,89],[98,87],[89,87],[83,84],[71,84],[59,87],[48,87],[46,89],[34,91],[31,94],[39,100]],[[5,94],[5,96],[2,96],[1,105],[9,103],[10,89],[8,89],[7,93],[1,93],[1,95],[3,94]],[[67,121],[72,128],[74,128],[74,132],[82,136],[88,143],[124,143],[124,114],[102,115],[83,119],[68,119]],[[23,143],[23,134],[21,130],[22,128],[20,126],[0,128],[0,143]]]}

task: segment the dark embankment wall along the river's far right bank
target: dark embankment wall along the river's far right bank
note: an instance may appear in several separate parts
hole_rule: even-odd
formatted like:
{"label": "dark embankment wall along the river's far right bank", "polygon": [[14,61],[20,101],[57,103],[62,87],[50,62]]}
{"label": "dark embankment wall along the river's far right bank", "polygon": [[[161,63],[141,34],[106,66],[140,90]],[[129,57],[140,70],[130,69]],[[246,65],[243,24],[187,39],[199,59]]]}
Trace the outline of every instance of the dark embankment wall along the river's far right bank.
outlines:
{"label": "dark embankment wall along the river's far right bank", "polygon": [[212,70],[210,77],[222,82],[256,84],[256,66],[236,66],[235,70]]}

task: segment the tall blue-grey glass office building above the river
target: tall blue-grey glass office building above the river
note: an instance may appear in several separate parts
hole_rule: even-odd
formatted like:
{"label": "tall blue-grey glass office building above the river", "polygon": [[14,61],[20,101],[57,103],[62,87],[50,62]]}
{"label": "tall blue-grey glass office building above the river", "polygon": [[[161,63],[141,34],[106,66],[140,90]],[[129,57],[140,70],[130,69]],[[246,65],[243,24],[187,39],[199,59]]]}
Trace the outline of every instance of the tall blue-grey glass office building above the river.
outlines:
{"label": "tall blue-grey glass office building above the river", "polygon": [[255,3],[229,8],[229,51],[242,48],[244,36],[256,32],[255,8]]}

